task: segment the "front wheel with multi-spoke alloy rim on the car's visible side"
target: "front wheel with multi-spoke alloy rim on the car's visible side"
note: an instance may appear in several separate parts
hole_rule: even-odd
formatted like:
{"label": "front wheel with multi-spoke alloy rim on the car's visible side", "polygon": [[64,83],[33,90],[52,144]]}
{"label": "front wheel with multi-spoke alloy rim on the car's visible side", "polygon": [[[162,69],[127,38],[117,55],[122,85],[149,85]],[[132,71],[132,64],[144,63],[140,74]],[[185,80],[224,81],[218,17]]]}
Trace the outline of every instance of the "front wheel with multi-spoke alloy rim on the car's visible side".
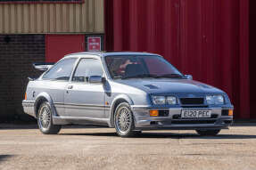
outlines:
{"label": "front wheel with multi-spoke alloy rim on the car's visible side", "polygon": [[120,103],[115,110],[114,126],[120,137],[133,137],[141,133],[135,131],[133,113],[127,102]]}

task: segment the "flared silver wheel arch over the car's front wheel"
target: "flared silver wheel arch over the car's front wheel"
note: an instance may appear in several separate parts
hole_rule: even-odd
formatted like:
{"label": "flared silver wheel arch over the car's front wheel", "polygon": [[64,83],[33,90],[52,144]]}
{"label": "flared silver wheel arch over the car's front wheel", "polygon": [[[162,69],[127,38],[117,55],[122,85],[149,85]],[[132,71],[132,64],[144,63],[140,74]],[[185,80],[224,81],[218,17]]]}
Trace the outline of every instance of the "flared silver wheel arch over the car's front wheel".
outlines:
{"label": "flared silver wheel arch over the car's front wheel", "polygon": [[114,127],[114,114],[118,105],[122,102],[127,102],[129,105],[133,105],[134,102],[130,99],[130,97],[126,94],[120,94],[114,98],[111,103],[111,115],[110,115],[110,127]]}

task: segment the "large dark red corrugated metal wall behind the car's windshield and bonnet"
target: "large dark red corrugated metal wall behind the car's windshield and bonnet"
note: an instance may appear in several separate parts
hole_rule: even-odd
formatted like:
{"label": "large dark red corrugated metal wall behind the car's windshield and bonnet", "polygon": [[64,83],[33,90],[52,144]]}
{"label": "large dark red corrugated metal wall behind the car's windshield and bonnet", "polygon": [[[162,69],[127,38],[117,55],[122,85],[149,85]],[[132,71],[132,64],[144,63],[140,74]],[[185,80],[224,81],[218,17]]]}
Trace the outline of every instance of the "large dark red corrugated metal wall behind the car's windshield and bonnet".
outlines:
{"label": "large dark red corrugated metal wall behind the car's windshield and bonnet", "polygon": [[106,49],[160,53],[249,118],[247,0],[106,0]]}

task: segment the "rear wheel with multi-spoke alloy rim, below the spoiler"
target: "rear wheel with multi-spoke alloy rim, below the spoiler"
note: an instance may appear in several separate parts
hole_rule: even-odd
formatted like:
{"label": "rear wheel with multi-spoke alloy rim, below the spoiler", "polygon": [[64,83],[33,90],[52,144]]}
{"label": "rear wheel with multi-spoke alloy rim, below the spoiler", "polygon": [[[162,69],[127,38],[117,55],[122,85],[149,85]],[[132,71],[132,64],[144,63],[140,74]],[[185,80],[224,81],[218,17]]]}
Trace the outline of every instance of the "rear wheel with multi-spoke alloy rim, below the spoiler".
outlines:
{"label": "rear wheel with multi-spoke alloy rim, below the spoiler", "polygon": [[54,125],[53,112],[48,102],[44,101],[37,111],[37,125],[43,134],[58,134],[62,125]]}

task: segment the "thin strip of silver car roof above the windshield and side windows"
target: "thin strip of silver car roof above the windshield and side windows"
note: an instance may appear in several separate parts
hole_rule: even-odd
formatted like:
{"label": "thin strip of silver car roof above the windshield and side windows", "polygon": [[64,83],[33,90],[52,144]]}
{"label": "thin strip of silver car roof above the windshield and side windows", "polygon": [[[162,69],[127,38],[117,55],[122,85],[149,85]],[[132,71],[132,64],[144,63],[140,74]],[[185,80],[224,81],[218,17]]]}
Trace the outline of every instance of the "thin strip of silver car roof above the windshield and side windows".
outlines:
{"label": "thin strip of silver car roof above the windshield and side windows", "polygon": [[95,55],[99,57],[105,56],[120,56],[120,55],[159,55],[156,53],[145,53],[145,52],[81,52],[81,53],[70,53],[65,55],[64,58],[73,57],[74,55]]}

